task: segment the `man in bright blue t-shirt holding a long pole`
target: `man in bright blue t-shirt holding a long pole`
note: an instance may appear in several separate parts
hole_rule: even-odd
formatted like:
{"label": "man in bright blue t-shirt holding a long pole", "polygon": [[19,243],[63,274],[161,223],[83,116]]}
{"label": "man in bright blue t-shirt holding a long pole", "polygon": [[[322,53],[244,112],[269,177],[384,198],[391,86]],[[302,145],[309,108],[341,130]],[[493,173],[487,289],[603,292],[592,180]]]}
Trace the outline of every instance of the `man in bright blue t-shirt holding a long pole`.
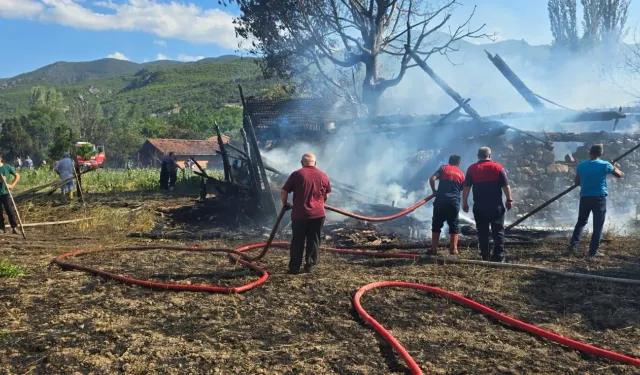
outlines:
{"label": "man in bright blue t-shirt holding a long pole", "polygon": [[589,244],[589,256],[604,256],[598,251],[602,238],[602,228],[607,213],[607,175],[622,177],[623,173],[608,161],[601,160],[603,147],[601,144],[591,146],[589,156],[591,160],[578,164],[576,170],[576,185],[580,185],[580,208],[578,222],[573,230],[569,250],[575,251],[580,242],[582,230],[589,221],[589,214],[593,212],[593,233]]}

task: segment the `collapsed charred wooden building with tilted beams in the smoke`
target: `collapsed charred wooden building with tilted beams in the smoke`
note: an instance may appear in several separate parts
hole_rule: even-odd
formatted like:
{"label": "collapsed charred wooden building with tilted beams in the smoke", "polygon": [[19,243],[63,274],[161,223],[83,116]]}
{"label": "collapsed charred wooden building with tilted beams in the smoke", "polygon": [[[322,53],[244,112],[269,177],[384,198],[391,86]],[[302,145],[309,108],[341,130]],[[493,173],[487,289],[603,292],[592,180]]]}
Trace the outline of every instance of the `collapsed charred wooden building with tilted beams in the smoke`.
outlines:
{"label": "collapsed charred wooden building with tilted beams in the smoke", "polygon": [[[217,195],[223,197],[242,192],[250,197],[251,204],[257,207],[264,217],[275,218],[277,215],[276,202],[279,199],[274,199],[274,197],[279,189],[274,186],[277,184],[273,182],[276,182],[282,173],[265,163],[260,153],[261,149],[287,147],[299,141],[326,143],[336,133],[339,133],[343,138],[358,139],[358,137],[368,137],[373,132],[377,132],[394,140],[405,138],[407,141],[415,141],[415,139],[420,139],[421,147],[424,149],[438,148],[441,154],[446,155],[459,151],[460,142],[453,142],[454,146],[447,149],[448,146],[443,146],[433,134],[438,134],[447,128],[454,128],[455,132],[451,137],[458,138],[463,144],[469,146],[472,143],[494,144],[496,139],[503,139],[507,133],[510,133],[530,144],[532,150],[543,154],[551,152],[553,155],[554,142],[588,143],[603,139],[621,141],[628,136],[619,132],[603,131],[581,133],[524,131],[510,122],[527,119],[546,124],[591,123],[593,125],[593,123],[612,122],[610,129],[616,131],[628,129],[630,124],[640,119],[640,116],[636,114],[630,116],[625,114],[625,112],[635,111],[635,108],[620,107],[617,110],[599,111],[571,110],[534,93],[498,54],[492,55],[489,52],[487,52],[489,60],[534,111],[482,116],[473,108],[470,98],[463,98],[438,76],[426,61],[420,59],[413,51],[408,50],[408,52],[416,65],[453,99],[456,106],[449,112],[441,115],[391,115],[363,119],[357,118],[355,109],[344,103],[331,102],[326,99],[267,100],[245,97],[242,88],[239,87],[243,105],[243,129],[241,132],[243,145],[224,144],[218,133],[219,152],[223,157],[225,181],[209,178],[202,170],[203,187],[209,185]],[[557,108],[549,108],[545,103]],[[597,127],[601,129],[602,125]],[[555,162],[555,160],[547,160],[548,156],[543,156],[543,158],[546,158],[545,162],[547,163],[553,164]],[[551,158],[555,158],[555,156],[551,156]],[[566,161],[568,163],[575,162],[571,155],[568,155]],[[438,162],[440,160],[436,160],[436,158],[425,162],[415,171],[413,177],[404,182],[404,187],[413,191],[424,186],[425,179],[437,168],[434,163]],[[547,165],[545,164],[545,168]],[[267,172],[272,174],[273,181],[271,183]],[[367,198],[370,201],[371,198],[375,199],[375,197],[359,192],[355,186],[340,182],[334,182],[334,185],[345,195],[354,199]],[[274,188],[276,191],[273,191]],[[206,192],[203,194],[204,196],[206,196]],[[392,205],[382,206],[384,209],[397,209]]]}

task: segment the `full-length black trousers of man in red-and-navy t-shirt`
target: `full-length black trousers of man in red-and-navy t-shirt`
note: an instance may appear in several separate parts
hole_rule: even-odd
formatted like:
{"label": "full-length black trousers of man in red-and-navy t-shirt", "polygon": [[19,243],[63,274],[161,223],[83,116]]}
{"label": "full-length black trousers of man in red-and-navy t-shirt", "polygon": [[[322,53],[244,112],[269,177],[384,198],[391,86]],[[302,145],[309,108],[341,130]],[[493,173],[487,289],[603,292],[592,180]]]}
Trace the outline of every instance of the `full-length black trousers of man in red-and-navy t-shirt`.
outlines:
{"label": "full-length black trousers of man in red-and-navy t-shirt", "polygon": [[[473,209],[473,218],[478,230],[478,242],[480,244],[480,256],[482,260],[504,259],[504,213],[503,206],[490,209]],[[493,235],[493,256],[489,253],[489,227]]]}

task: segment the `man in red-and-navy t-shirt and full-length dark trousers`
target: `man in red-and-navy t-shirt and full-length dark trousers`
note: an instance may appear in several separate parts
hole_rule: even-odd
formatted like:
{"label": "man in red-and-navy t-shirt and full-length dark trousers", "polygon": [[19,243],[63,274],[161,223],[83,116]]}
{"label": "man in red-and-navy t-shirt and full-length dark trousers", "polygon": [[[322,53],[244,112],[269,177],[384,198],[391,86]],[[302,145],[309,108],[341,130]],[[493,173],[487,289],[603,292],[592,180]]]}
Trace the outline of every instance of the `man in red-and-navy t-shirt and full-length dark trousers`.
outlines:
{"label": "man in red-and-navy t-shirt and full-length dark trousers", "polygon": [[[513,205],[507,172],[491,160],[491,149],[480,147],[478,162],[467,169],[462,192],[462,210],[469,212],[469,192],[473,188],[473,217],[478,230],[480,255],[484,261],[504,263],[504,214]],[[507,197],[506,210],[502,193]],[[489,227],[493,235],[493,255],[489,252]]]}

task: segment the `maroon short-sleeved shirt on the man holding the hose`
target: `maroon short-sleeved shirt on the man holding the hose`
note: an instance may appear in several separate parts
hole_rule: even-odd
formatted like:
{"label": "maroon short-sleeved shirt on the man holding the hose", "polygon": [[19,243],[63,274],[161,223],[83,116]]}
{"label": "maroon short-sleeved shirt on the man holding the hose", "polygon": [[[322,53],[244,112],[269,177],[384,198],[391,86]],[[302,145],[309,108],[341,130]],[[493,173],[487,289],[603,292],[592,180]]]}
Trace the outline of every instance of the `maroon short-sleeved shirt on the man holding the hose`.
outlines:
{"label": "maroon short-sleeved shirt on the man holding the hose", "polygon": [[324,201],[331,193],[329,177],[316,167],[302,167],[293,172],[282,190],[293,193],[291,220],[325,217]]}

